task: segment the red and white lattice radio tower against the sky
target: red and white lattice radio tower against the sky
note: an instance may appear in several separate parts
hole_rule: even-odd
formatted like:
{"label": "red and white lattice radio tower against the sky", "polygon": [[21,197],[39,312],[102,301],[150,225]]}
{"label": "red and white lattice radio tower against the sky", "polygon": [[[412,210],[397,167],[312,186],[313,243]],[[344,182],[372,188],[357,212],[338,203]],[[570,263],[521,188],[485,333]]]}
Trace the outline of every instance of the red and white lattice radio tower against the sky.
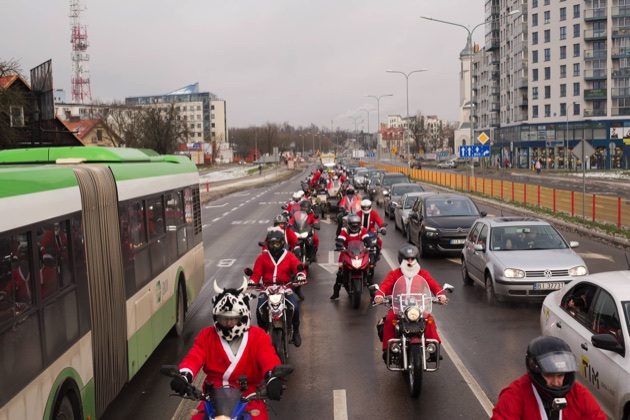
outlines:
{"label": "red and white lattice radio tower against the sky", "polygon": [[72,102],[85,103],[92,100],[92,90],[90,89],[90,72],[88,62],[90,56],[86,52],[88,47],[87,27],[81,25],[80,0],[70,0],[70,24],[72,35]]}

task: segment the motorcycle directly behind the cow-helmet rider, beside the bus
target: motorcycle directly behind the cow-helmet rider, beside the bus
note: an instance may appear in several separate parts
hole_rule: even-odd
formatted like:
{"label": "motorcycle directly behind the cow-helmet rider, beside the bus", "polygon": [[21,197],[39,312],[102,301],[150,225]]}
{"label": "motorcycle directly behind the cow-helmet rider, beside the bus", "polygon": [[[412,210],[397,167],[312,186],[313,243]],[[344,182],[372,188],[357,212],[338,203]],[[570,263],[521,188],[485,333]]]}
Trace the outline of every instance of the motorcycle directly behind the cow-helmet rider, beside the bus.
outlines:
{"label": "motorcycle directly behind the cow-helmet rider, beside the bus", "polygon": [[[301,271],[304,267],[300,266],[299,269]],[[250,268],[246,268],[244,272],[248,276],[252,275]],[[287,296],[294,293],[291,286],[303,286],[304,284],[306,284],[305,280],[251,287],[259,292],[259,297],[260,294],[267,296],[266,304],[260,307],[260,312],[257,315],[265,320],[265,329],[271,337],[271,343],[282,363],[286,363],[289,359],[289,343],[293,340],[293,311],[295,308]]]}

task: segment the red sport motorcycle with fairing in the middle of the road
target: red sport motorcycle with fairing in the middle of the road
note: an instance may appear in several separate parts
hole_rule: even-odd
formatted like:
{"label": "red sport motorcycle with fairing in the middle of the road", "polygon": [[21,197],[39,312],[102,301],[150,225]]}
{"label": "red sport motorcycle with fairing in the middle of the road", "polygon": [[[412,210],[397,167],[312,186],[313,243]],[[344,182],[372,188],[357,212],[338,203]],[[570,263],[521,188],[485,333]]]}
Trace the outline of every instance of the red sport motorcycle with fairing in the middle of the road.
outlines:
{"label": "red sport motorcycle with fairing in the middle of the road", "polygon": [[374,264],[370,258],[370,251],[362,240],[350,240],[346,248],[341,251],[342,285],[350,296],[350,303],[354,309],[361,306],[363,288],[371,283],[370,270]]}

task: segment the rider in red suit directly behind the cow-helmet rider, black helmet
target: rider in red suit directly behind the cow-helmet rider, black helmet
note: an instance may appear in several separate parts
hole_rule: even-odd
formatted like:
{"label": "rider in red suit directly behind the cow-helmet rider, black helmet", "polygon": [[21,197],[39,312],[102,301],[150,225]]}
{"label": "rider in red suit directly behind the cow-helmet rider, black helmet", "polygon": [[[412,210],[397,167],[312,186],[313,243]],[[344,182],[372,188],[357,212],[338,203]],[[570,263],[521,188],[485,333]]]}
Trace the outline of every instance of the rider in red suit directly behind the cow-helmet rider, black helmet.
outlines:
{"label": "rider in red suit directly behind the cow-helmet rider, black helmet", "polygon": [[[270,285],[272,283],[289,283],[294,278],[298,281],[306,280],[306,273],[299,270],[300,260],[295,254],[289,252],[284,246],[284,235],[279,229],[271,229],[267,233],[267,249],[256,258],[254,272],[250,276],[250,281],[256,284]],[[292,286],[293,287],[293,286]],[[302,337],[300,336],[300,302],[295,293],[286,296],[287,300],[293,304],[293,344],[300,347]],[[267,302],[266,295],[258,296],[258,306],[256,308],[256,318],[258,325],[265,328],[267,322],[262,317],[262,307]]]}

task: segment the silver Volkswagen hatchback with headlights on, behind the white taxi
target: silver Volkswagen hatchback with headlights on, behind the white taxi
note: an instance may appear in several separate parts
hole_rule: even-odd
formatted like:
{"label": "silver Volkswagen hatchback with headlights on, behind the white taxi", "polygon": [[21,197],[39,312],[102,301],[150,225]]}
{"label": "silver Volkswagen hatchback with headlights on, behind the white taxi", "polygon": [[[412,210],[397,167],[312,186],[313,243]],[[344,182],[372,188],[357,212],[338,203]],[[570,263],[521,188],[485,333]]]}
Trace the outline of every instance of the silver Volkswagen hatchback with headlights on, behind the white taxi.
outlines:
{"label": "silver Volkswagen hatchback with headlights on, behind the white taxi", "polygon": [[464,284],[477,283],[489,303],[506,298],[543,300],[588,274],[582,257],[549,223],[527,217],[477,220],[462,249]]}

